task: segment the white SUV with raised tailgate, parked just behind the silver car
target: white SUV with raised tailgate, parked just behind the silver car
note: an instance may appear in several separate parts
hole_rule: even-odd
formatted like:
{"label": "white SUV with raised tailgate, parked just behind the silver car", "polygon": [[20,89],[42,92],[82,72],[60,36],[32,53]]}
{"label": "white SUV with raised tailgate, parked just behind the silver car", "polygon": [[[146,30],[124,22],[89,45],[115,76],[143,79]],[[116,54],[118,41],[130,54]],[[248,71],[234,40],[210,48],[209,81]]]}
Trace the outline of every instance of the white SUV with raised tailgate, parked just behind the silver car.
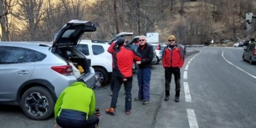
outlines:
{"label": "white SUV with raised tailgate, parked just behind the silver car", "polygon": [[133,33],[122,32],[114,36],[109,42],[103,40],[80,40],[74,46],[78,51],[83,52],[86,58],[91,60],[91,65],[99,79],[100,85],[104,86],[111,80],[112,75],[112,55],[108,52],[110,46],[116,38],[120,36],[131,36]]}

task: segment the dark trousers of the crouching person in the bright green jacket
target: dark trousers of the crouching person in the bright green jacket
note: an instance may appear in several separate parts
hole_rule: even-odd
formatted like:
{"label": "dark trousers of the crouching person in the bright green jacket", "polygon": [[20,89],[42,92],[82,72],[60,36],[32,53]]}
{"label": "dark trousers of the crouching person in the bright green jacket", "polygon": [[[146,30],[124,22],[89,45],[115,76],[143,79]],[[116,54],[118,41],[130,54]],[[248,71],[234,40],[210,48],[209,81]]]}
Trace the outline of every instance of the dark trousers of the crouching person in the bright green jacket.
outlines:
{"label": "dark trousers of the crouching person in the bright green jacket", "polygon": [[[70,112],[68,110],[68,112]],[[70,115],[70,113],[68,113]],[[62,111],[61,111],[62,113]],[[81,117],[81,118],[80,118]],[[83,117],[83,118],[82,118]],[[99,124],[99,118],[97,116],[88,116],[88,120],[86,120],[86,115],[83,116],[83,113],[80,115],[74,114],[70,116],[58,116],[56,118],[56,122],[58,125],[60,125],[62,128],[94,128],[96,125]]]}

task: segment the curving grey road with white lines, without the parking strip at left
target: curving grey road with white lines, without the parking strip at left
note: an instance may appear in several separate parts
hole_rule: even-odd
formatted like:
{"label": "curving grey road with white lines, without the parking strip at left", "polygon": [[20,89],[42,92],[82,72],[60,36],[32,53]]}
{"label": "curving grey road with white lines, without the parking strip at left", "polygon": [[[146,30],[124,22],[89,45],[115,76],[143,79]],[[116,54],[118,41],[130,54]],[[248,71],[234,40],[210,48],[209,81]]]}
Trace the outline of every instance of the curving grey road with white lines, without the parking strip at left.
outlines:
{"label": "curving grey road with white lines, without the parking strip at left", "polygon": [[256,67],[241,48],[198,48],[182,68],[179,104],[162,102],[155,127],[256,127]]}

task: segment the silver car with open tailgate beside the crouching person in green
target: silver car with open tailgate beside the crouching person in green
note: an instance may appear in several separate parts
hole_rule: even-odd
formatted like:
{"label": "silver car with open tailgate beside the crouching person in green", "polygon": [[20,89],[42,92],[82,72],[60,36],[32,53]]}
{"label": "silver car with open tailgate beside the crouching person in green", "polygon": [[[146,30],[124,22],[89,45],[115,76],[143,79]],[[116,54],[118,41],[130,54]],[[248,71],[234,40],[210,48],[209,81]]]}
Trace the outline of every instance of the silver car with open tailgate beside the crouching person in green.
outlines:
{"label": "silver car with open tailgate beside the crouching person in green", "polygon": [[[0,104],[17,105],[33,120],[52,116],[60,93],[70,84],[95,82],[95,72],[83,53],[72,46],[93,22],[71,20],[54,36],[52,47],[42,42],[0,42]],[[49,42],[47,42],[49,44]],[[67,60],[83,67],[76,78]]]}

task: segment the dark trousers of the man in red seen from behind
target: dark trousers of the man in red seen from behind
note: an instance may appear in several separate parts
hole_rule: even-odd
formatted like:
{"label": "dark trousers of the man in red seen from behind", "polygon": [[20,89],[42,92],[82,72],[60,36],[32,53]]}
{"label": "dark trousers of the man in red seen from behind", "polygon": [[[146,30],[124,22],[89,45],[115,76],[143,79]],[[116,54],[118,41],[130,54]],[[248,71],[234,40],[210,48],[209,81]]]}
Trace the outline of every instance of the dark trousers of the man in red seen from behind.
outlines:
{"label": "dark trousers of the man in red seen from behind", "polygon": [[114,90],[113,90],[113,95],[112,95],[110,106],[113,108],[116,108],[118,93],[122,86],[122,83],[124,83],[124,90],[125,90],[125,110],[128,111],[128,110],[131,110],[131,108],[132,108],[132,102],[131,102],[132,77],[127,78],[127,81],[123,81],[123,79],[120,79],[119,77],[115,78]]}

